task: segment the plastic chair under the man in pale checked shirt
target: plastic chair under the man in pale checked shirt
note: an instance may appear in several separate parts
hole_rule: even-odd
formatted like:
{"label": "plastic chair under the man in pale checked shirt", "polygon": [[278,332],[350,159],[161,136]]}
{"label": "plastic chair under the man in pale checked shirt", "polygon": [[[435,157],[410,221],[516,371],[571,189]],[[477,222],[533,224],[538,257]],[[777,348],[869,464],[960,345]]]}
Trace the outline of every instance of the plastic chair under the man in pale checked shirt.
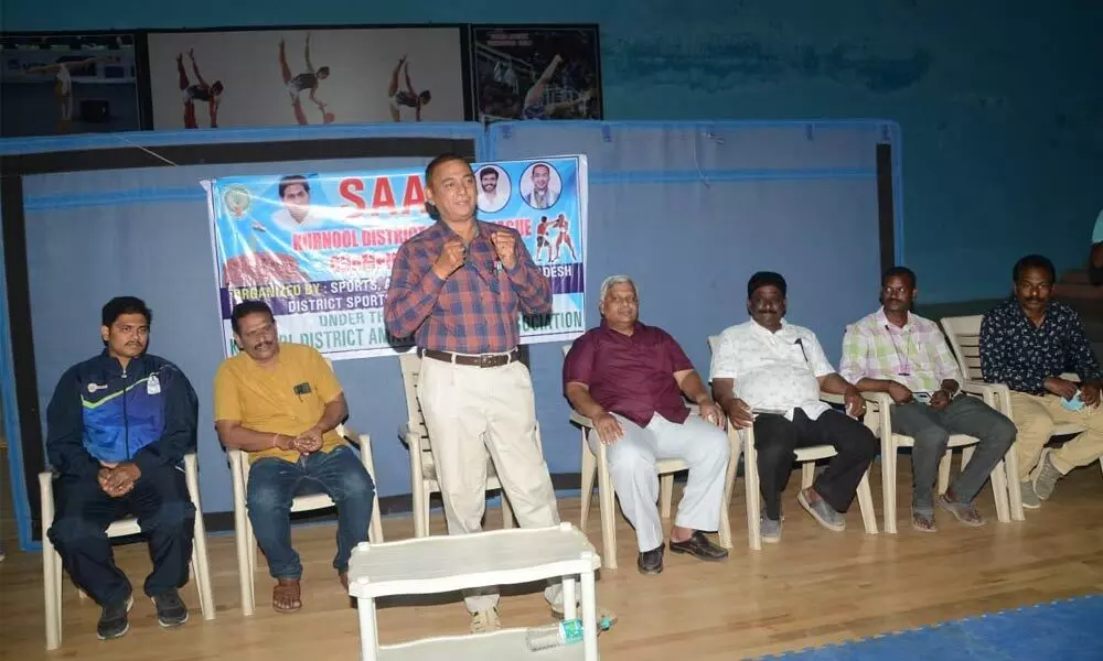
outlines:
{"label": "plastic chair under the man in pale checked shirt", "polygon": [[[892,433],[891,405],[892,398],[887,392],[864,392],[861,395],[868,402],[866,409],[866,426],[881,440],[881,498],[885,511],[885,531],[897,532],[897,458],[901,447],[914,447],[915,440],[903,434]],[[974,446],[979,441],[965,434],[953,434],[946,444],[946,452],[939,463],[939,494],[944,494],[950,483],[950,462],[953,448],[962,449],[962,469],[968,464]],[[1007,509],[1007,480],[1004,462],[996,464],[990,474],[992,495],[996,501],[996,518],[1000,523],[1009,522]]]}

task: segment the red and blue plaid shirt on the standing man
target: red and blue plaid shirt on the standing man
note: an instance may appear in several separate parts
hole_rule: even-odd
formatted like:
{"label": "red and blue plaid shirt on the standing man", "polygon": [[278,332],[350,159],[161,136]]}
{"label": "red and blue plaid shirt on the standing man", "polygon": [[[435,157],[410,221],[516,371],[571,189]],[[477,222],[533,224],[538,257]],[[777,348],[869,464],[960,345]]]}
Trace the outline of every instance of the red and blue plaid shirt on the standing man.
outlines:
{"label": "red and blue plaid shirt on the standing man", "polygon": [[[468,245],[468,258],[447,280],[432,271],[445,241],[457,236],[443,221],[411,237],[395,256],[390,288],[384,305],[387,330],[396,337],[415,336],[424,349],[457,354],[497,354],[517,346],[520,312],[552,312],[552,284],[533,262],[514,229],[476,220],[479,234]],[[493,231],[510,231],[517,263],[505,269],[497,261]]]}

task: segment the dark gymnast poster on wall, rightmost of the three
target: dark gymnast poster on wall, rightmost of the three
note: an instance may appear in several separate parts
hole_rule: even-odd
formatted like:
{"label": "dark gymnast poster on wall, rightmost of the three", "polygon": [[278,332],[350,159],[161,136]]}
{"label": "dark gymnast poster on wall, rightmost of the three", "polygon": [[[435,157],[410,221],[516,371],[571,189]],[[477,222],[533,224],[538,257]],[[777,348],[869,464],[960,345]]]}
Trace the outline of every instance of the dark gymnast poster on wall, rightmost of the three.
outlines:
{"label": "dark gymnast poster on wall, rightmost of the three", "polygon": [[472,25],[479,121],[602,119],[597,25]]}

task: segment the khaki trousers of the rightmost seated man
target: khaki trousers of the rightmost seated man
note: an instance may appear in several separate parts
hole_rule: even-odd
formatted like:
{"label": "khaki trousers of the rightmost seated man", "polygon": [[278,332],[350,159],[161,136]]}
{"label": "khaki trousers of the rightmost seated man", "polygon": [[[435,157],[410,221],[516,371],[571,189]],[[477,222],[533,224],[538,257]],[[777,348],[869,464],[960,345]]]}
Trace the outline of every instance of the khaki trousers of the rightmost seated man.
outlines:
{"label": "khaki trousers of the rightmost seated man", "polygon": [[1053,467],[1067,475],[1077,466],[1086,466],[1103,456],[1103,408],[1069,411],[1056,394],[1036,395],[1011,391],[1011,420],[1019,432],[1015,440],[1015,458],[1019,463],[1019,481],[1030,478],[1038,465],[1042,447],[1058,424],[1077,424],[1085,432],[1069,441],[1051,455]]}

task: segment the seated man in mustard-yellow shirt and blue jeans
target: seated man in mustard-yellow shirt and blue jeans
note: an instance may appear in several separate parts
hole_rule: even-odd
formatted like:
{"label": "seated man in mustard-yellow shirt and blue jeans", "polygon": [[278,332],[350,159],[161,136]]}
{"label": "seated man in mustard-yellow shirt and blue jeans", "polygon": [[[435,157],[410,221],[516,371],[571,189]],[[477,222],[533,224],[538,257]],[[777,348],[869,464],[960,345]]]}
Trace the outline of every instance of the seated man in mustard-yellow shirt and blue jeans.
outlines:
{"label": "seated man in mustard-yellow shirt and blue jeans", "polygon": [[349,556],[367,541],[375,485],[352,448],[333,430],[347,416],[332,368],[312,347],[280,344],[276,318],[261,301],[243,301],[231,315],[243,353],[225,360],[214,379],[214,420],[226,447],[249,453],[246,503],[257,543],[276,579],[272,608],[302,607],[302,564],[291,548],[291,499],[312,480],[338,506],[333,567],[349,587]]}

